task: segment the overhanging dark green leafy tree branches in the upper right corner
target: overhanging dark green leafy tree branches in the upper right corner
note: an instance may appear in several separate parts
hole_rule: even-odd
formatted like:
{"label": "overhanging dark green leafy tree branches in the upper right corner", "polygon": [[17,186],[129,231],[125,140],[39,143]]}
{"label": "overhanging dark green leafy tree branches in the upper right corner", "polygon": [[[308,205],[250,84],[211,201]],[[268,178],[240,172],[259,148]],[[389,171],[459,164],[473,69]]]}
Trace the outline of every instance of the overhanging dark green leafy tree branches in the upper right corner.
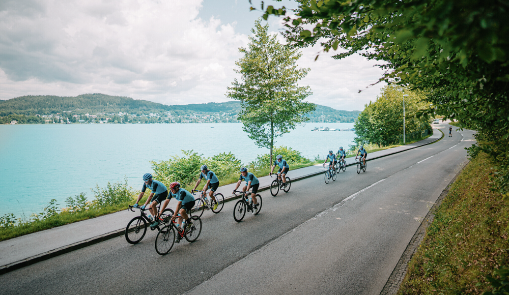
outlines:
{"label": "overhanging dark green leafy tree branches in the upper right corner", "polygon": [[[493,179],[509,191],[509,4],[498,0],[298,0],[286,17],[292,46],[320,43],[384,61],[380,79],[427,92],[436,112],[478,132],[469,149],[491,155]],[[262,8],[264,9],[264,8]],[[265,9],[284,15],[286,9]]]}

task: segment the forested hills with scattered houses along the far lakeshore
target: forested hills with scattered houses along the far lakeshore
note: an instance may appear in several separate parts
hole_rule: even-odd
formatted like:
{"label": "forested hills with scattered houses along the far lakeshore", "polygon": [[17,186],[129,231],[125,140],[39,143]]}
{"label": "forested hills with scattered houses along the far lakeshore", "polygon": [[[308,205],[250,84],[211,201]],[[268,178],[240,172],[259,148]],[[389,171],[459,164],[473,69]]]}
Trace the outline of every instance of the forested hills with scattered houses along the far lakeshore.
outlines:
{"label": "forested hills with scattered houses along the far lakeshore", "polygon": [[[240,102],[201,103],[187,105],[164,105],[147,100],[134,100],[129,97],[110,96],[105,94],[83,94],[76,97],[61,96],[22,96],[9,100],[0,100],[0,116],[11,114],[33,116],[49,115],[62,112],[72,114],[99,114],[127,112],[132,114],[149,114],[172,112],[184,115],[192,112],[225,112],[232,115],[240,111]],[[336,110],[317,105],[315,112],[309,114],[312,122],[353,122],[360,111]]]}

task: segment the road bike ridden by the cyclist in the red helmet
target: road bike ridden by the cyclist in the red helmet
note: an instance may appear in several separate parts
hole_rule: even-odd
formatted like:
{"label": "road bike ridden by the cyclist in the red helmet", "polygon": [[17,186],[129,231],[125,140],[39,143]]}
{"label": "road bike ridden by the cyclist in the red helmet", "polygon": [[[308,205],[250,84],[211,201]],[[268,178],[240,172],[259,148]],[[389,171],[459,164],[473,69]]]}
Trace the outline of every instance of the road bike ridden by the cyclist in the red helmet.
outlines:
{"label": "road bike ridden by the cyclist in the red helmet", "polygon": [[167,254],[170,250],[172,250],[175,243],[180,243],[180,240],[184,238],[189,243],[192,243],[198,239],[200,233],[202,232],[202,219],[194,215],[189,216],[189,221],[191,224],[186,224],[186,228],[178,228],[175,225],[175,220],[172,220],[172,222],[159,230],[155,243],[157,254]]}

